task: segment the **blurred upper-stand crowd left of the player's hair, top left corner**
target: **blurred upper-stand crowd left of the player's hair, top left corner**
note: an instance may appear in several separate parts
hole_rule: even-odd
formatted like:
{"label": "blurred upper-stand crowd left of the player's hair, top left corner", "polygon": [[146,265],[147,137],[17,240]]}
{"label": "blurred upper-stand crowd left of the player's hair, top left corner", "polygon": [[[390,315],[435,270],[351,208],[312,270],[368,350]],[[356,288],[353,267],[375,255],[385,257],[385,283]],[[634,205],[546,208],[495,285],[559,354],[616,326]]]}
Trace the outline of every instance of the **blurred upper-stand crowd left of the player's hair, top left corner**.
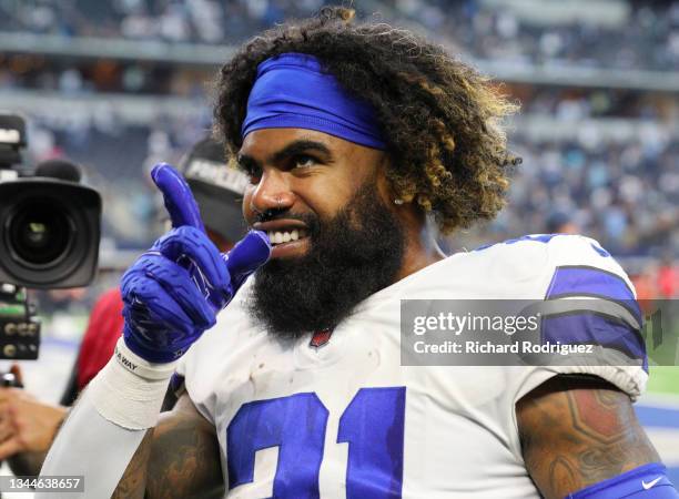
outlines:
{"label": "blurred upper-stand crowd left of the player's hair, top left corner", "polygon": [[6,0],[0,2],[4,14],[0,30],[224,43],[323,4],[322,0]]}

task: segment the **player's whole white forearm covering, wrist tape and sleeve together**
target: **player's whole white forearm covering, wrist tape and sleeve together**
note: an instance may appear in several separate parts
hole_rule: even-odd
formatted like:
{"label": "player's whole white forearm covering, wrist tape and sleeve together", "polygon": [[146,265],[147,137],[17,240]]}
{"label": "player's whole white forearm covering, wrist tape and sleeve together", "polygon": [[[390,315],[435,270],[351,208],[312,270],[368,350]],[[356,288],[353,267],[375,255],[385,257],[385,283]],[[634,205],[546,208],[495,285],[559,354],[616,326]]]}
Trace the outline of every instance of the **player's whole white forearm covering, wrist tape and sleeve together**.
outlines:
{"label": "player's whole white forearm covering, wrist tape and sleeve together", "polygon": [[[84,495],[60,498],[111,497],[146,430],[158,422],[175,364],[150,364],[119,339],[113,358],[62,425],[40,471],[41,476],[84,477]],[[53,497],[36,495],[36,499]]]}

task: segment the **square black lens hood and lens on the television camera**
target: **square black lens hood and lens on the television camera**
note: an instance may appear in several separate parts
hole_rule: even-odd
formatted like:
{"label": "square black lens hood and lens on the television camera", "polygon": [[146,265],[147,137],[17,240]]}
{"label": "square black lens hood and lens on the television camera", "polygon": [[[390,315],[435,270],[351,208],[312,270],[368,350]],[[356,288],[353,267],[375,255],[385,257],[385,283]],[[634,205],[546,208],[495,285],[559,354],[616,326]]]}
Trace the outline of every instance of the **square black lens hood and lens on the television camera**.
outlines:
{"label": "square black lens hood and lens on the television camera", "polygon": [[101,196],[91,187],[41,177],[0,182],[0,283],[87,285],[97,269],[100,220]]}

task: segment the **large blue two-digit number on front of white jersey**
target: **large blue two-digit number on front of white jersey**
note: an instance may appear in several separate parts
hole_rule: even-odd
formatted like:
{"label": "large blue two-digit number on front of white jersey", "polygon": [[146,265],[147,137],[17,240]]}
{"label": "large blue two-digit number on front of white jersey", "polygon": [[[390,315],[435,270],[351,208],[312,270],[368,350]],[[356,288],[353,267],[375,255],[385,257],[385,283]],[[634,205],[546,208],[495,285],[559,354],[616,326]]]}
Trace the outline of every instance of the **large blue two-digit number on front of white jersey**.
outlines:
{"label": "large blue two-digit number on front of white jersey", "polygon": [[[316,394],[241,406],[226,429],[229,489],[254,477],[255,452],[278,447],[276,499],[320,498],[318,471],[328,411]],[[347,499],[395,499],[403,485],[405,387],[362,388],[340,418],[348,444]]]}

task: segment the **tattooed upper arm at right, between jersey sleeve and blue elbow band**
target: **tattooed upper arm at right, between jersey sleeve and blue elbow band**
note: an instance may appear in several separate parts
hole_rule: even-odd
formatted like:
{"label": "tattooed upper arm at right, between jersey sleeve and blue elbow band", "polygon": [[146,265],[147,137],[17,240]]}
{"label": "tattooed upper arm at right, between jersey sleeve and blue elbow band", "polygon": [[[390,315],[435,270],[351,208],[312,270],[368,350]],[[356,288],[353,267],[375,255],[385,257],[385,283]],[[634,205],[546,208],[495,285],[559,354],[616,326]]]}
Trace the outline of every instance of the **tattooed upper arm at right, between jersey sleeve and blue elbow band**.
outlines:
{"label": "tattooed upper arm at right, between jersey sleeve and blue elbow band", "polygon": [[594,376],[551,378],[516,415],[526,468],[546,498],[660,461],[629,397]]}

